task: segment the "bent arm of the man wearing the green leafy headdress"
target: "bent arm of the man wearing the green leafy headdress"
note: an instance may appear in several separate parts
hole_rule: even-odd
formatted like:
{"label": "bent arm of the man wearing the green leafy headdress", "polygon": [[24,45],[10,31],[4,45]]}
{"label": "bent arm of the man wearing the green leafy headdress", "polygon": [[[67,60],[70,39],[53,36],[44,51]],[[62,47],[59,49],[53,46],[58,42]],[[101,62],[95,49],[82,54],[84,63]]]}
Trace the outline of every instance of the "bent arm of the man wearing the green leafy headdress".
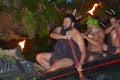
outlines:
{"label": "bent arm of the man wearing the green leafy headdress", "polygon": [[100,46],[101,43],[103,42],[104,37],[105,37],[105,34],[104,34],[104,31],[101,31],[100,34],[99,34],[99,36],[98,36],[98,39],[97,39],[97,40],[95,40],[95,39],[93,39],[93,38],[90,38],[90,37],[88,37],[88,36],[86,36],[86,35],[84,35],[84,34],[83,34],[83,37],[84,37],[88,42],[90,42],[90,43],[93,44],[94,46],[98,47],[98,46]]}

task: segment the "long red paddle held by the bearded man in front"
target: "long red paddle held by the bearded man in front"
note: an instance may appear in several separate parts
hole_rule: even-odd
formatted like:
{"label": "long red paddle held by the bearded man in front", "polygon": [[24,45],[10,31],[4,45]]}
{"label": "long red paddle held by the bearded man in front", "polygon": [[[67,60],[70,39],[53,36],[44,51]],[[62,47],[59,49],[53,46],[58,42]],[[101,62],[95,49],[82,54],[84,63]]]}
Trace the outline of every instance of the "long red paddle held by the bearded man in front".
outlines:
{"label": "long red paddle held by the bearded man in front", "polygon": [[[74,48],[72,39],[69,39],[68,42],[69,42],[70,48],[71,48],[71,50],[72,50],[72,55],[73,55],[75,64],[76,64],[76,66],[79,66],[79,61],[78,61],[78,59],[77,59],[77,55],[76,55],[76,52],[75,52],[75,48]],[[81,80],[87,80],[87,79],[84,77],[82,71],[78,71],[78,73],[79,73],[79,77],[80,77]]]}

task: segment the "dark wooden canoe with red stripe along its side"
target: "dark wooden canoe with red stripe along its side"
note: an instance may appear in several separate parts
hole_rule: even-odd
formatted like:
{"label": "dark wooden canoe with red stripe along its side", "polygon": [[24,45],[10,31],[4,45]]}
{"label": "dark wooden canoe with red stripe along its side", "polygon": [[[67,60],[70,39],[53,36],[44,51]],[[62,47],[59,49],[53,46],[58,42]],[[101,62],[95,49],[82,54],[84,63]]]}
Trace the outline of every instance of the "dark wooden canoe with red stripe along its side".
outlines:
{"label": "dark wooden canoe with red stripe along its side", "polygon": [[[90,62],[86,62],[83,65],[83,73],[87,73],[88,71],[104,67],[106,65],[112,65],[115,63],[120,63],[120,54],[112,55],[109,57],[101,58],[99,60],[94,60]],[[54,72],[49,72],[46,74],[42,74],[38,76],[38,80],[55,80],[61,77],[69,76],[72,74],[77,74],[77,70],[74,66],[66,67],[60,70],[56,70]]]}

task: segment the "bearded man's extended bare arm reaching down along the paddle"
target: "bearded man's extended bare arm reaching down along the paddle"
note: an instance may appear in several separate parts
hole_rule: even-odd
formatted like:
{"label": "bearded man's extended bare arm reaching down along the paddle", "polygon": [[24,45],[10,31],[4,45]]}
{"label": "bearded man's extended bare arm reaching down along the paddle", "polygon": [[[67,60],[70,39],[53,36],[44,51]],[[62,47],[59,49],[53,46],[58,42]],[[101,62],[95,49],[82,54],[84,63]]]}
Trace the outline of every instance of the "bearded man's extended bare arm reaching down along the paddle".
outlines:
{"label": "bearded man's extended bare arm reaching down along the paddle", "polygon": [[81,51],[80,65],[83,65],[83,63],[86,59],[86,50],[85,50],[84,39],[79,32],[75,33],[74,38],[75,38],[75,41],[78,44],[79,49]]}

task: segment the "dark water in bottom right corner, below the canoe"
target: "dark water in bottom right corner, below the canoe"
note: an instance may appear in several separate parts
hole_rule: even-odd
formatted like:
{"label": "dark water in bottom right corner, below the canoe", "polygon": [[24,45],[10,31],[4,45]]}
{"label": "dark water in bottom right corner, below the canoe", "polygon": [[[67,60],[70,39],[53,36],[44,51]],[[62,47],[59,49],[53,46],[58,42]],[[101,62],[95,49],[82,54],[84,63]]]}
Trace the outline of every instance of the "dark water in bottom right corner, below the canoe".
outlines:
{"label": "dark water in bottom right corner, below the canoe", "polygon": [[89,71],[88,74],[93,80],[120,80],[120,62]]}

